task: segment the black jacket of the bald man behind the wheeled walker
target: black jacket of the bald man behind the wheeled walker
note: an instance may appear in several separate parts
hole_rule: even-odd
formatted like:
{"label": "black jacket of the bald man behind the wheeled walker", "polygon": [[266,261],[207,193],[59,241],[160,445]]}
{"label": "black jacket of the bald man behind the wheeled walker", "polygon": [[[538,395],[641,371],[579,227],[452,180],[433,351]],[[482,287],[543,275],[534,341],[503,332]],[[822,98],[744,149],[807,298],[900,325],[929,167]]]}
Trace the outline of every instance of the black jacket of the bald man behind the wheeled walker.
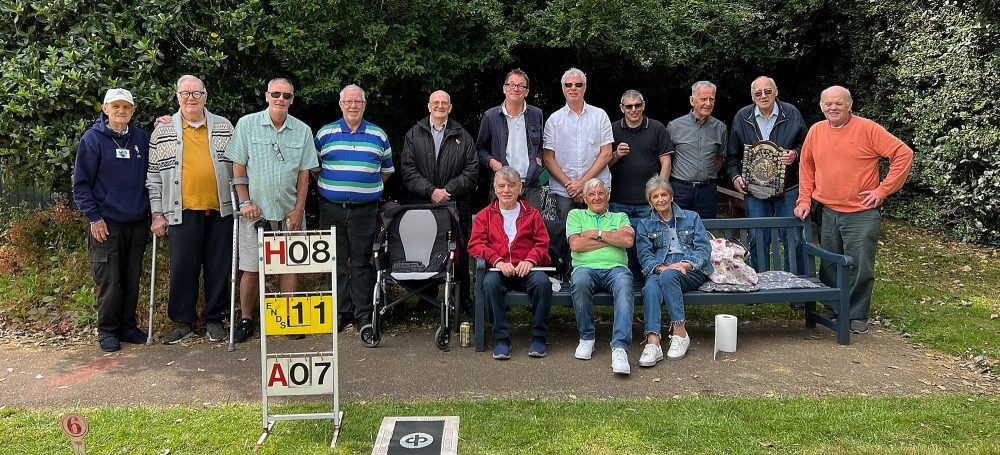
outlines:
{"label": "black jacket of the bald man behind the wheeled walker", "polygon": [[430,203],[431,193],[444,188],[459,207],[468,206],[479,177],[479,157],[472,136],[455,120],[448,119],[435,160],[430,118],[421,119],[406,133],[400,161],[409,203]]}

